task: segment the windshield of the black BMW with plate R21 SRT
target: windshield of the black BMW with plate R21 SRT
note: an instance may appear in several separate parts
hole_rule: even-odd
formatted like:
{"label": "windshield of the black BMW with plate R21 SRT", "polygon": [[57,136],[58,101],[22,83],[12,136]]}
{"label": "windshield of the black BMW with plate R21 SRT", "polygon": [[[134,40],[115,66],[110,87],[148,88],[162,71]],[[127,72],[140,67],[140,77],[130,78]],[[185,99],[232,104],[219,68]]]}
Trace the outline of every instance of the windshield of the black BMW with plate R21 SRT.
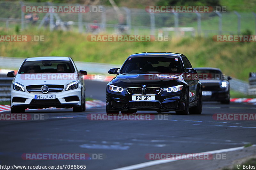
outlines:
{"label": "windshield of the black BMW with plate R21 SRT", "polygon": [[180,59],[170,57],[129,58],[121,73],[181,73]]}

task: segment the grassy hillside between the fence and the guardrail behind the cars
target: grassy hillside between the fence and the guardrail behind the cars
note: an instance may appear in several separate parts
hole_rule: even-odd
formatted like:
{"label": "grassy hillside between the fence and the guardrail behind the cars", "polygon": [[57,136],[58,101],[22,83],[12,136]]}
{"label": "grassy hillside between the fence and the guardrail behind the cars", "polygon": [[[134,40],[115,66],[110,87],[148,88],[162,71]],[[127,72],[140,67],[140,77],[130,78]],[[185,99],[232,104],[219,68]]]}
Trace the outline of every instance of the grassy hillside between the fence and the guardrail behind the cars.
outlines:
{"label": "grassy hillside between the fence and the guardrail behind the cars", "polygon": [[[0,30],[0,35],[17,34]],[[183,53],[193,67],[219,67],[223,73],[248,81],[256,71],[256,43],[214,42],[212,38],[173,38],[169,42],[89,42],[86,35],[62,31],[23,31],[45,35],[45,42],[0,42],[0,56],[69,56],[75,61],[123,64],[132,53],[168,51]]]}

